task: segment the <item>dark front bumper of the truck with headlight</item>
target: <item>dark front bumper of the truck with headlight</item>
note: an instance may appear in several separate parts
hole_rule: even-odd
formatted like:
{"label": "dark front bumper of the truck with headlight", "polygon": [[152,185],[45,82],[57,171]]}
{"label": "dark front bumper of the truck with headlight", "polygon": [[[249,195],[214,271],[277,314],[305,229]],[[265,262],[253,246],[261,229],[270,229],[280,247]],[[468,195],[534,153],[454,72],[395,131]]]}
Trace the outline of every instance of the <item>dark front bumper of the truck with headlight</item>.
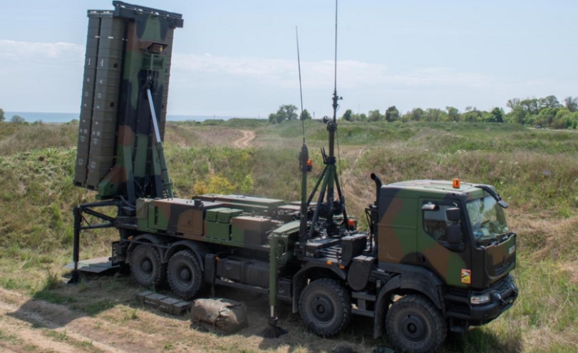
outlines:
{"label": "dark front bumper of the truck with headlight", "polygon": [[507,275],[487,290],[475,292],[475,295],[486,293],[490,295],[490,302],[482,305],[470,304],[472,292],[468,292],[468,295],[462,297],[454,297],[453,300],[446,302],[447,317],[468,322],[468,326],[487,324],[510,309],[518,296],[512,275]]}

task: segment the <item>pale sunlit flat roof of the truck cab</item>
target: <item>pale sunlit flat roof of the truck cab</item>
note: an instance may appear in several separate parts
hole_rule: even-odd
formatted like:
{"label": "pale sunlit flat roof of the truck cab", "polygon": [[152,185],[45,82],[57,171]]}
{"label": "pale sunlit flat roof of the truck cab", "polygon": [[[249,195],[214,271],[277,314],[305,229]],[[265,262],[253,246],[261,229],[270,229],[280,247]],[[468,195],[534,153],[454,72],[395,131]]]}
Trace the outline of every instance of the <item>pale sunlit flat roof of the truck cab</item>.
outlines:
{"label": "pale sunlit flat roof of the truck cab", "polygon": [[[472,183],[460,182],[459,188],[454,188],[453,183],[450,180],[408,180],[400,181],[397,183],[391,183],[383,185],[382,188],[385,189],[397,189],[397,190],[413,190],[420,194],[439,194],[447,195],[448,193],[463,193],[469,196],[478,196],[476,194],[480,193],[483,195],[484,191],[480,188],[476,188]],[[490,186],[490,188],[493,188]]]}

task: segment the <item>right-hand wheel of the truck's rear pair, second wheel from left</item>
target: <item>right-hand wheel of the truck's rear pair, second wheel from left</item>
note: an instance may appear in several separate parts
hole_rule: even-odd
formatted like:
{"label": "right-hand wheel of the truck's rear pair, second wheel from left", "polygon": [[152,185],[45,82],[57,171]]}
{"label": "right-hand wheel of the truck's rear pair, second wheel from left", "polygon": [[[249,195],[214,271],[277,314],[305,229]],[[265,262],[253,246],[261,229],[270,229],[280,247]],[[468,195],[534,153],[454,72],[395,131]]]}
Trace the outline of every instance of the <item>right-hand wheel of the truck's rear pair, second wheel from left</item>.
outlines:
{"label": "right-hand wheel of the truck's rear pair, second wheel from left", "polygon": [[172,292],[185,300],[194,297],[203,284],[201,267],[190,250],[181,250],[172,255],[167,277]]}

